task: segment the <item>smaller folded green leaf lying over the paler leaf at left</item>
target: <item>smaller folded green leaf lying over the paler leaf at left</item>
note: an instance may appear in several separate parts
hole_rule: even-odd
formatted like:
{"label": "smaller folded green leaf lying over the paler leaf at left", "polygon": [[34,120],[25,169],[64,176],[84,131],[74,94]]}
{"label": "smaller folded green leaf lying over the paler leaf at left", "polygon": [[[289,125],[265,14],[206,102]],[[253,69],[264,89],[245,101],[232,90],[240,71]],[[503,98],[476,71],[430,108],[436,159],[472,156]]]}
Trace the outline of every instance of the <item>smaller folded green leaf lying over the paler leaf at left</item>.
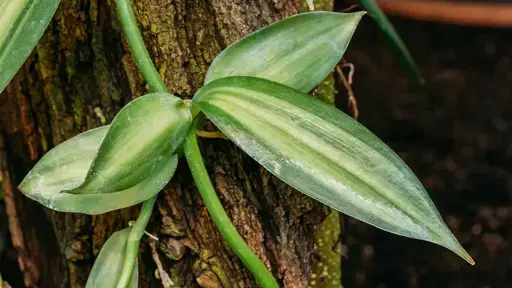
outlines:
{"label": "smaller folded green leaf lying over the paler leaf at left", "polygon": [[85,182],[74,194],[128,189],[169,161],[192,124],[183,101],[166,93],[140,97],[114,118]]}

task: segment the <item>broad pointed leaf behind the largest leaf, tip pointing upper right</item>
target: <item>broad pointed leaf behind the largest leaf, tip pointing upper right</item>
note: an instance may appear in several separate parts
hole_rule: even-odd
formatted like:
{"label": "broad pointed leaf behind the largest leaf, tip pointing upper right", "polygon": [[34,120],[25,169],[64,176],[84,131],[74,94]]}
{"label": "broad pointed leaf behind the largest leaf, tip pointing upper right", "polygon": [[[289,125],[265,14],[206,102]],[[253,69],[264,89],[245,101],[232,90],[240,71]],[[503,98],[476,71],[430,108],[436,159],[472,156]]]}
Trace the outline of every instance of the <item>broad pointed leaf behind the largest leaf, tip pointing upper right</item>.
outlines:
{"label": "broad pointed leaf behind the largest leaf, tip pointing upper right", "polygon": [[308,12],[235,42],[213,61],[205,83],[255,76],[309,92],[340,61],[364,12]]}

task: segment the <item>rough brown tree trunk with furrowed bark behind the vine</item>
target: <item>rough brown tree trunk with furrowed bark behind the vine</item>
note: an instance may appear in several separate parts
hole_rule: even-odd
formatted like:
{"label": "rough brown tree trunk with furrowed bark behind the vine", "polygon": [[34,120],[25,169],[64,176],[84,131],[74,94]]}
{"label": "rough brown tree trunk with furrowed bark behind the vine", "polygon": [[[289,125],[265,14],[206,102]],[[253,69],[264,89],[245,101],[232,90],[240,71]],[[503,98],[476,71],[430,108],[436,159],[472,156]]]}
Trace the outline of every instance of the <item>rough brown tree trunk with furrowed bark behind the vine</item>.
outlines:
{"label": "rough brown tree trunk with furrowed bark behind the vine", "polygon": [[[0,94],[0,167],[6,213],[27,287],[83,287],[102,245],[135,220],[140,205],[97,216],[57,213],[16,186],[53,146],[109,123],[147,92],[122,35],[114,1],[64,0],[54,20]],[[298,0],[138,0],[146,46],[172,93],[191,98],[227,45],[295,14]],[[209,127],[212,129],[213,127]],[[285,185],[226,140],[201,141],[229,216],[285,287],[306,287],[315,225],[325,206]],[[182,287],[256,287],[211,221],[186,163],[158,198],[147,230],[159,237],[166,271]],[[147,240],[140,287],[159,287]]]}

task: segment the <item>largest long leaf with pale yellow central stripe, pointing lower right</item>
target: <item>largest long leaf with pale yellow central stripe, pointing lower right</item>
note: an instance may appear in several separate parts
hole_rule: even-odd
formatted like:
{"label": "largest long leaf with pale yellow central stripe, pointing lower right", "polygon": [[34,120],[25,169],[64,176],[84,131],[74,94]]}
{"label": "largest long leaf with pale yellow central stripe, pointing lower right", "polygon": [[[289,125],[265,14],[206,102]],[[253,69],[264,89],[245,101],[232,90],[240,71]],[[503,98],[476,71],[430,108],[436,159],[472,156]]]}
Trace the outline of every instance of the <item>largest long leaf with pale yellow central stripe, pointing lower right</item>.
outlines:
{"label": "largest long leaf with pale yellow central stripe, pointing lower right", "polygon": [[228,77],[192,101],[295,189],[380,229],[442,245],[473,263],[407,165],[351,117],[290,87]]}

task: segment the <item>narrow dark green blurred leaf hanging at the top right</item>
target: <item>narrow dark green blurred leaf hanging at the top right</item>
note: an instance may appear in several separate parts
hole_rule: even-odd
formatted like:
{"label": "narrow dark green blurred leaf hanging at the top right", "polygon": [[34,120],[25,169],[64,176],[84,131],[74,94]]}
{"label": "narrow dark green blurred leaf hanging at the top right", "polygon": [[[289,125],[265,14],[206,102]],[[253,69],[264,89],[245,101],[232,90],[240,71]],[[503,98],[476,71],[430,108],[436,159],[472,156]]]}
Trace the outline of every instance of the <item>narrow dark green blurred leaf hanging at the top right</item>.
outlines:
{"label": "narrow dark green blurred leaf hanging at the top right", "polygon": [[393,27],[393,24],[389,22],[388,17],[386,17],[386,14],[382,12],[379,5],[375,3],[374,0],[361,0],[361,5],[373,16],[373,19],[375,20],[375,23],[377,23],[377,26],[379,29],[384,33],[386,36],[388,42],[391,44],[393,49],[396,51],[398,56],[400,56],[400,61],[402,62],[402,65],[407,68],[409,71],[411,77],[416,81],[416,84],[418,84],[420,87],[425,85],[425,79],[423,76],[421,76],[421,72],[418,69],[418,66],[416,66],[416,63],[414,62],[414,59],[411,56],[411,53],[407,49],[407,47],[404,44],[404,41],[402,41],[402,38],[398,35],[395,28]]}

